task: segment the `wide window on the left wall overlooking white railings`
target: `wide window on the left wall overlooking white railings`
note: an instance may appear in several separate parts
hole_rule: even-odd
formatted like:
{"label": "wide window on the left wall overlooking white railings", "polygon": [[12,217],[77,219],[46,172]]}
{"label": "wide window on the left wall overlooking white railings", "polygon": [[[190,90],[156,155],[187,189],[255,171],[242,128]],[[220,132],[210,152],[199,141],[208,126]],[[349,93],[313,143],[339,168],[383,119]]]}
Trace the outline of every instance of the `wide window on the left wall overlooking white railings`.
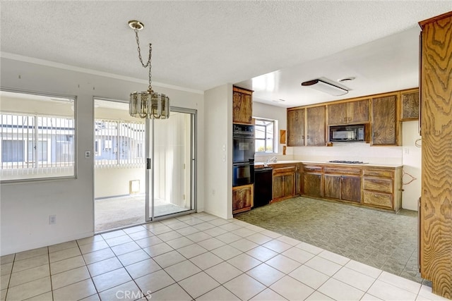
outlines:
{"label": "wide window on the left wall overlooking white railings", "polygon": [[1,180],[75,175],[74,99],[0,92]]}

